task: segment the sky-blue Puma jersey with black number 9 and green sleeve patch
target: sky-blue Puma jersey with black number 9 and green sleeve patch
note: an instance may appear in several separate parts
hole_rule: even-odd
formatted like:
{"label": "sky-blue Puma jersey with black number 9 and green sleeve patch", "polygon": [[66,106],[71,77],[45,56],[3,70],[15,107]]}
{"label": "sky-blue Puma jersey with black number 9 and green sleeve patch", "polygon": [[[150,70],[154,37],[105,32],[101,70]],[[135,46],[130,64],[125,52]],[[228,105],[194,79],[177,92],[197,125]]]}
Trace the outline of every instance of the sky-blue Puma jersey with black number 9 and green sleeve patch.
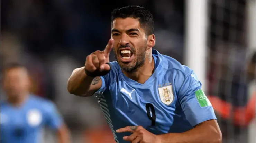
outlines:
{"label": "sky-blue Puma jersey with black number 9 and green sleeve patch", "polygon": [[216,119],[193,70],[175,59],[152,50],[155,71],[140,84],[126,77],[117,62],[102,76],[96,92],[116,142],[131,133],[116,133],[126,126],[143,126],[154,134],[180,133]]}

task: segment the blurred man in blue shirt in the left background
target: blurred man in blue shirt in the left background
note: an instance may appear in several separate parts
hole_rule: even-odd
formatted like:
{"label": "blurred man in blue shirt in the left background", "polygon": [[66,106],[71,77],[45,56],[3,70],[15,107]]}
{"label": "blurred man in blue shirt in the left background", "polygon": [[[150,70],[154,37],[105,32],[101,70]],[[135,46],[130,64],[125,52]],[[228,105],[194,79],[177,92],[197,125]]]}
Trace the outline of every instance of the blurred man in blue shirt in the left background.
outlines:
{"label": "blurred man in blue shirt in the left background", "polygon": [[9,65],[4,71],[7,101],[1,102],[1,143],[39,143],[45,125],[57,131],[60,143],[68,143],[68,130],[55,105],[30,95],[29,89],[27,69]]}

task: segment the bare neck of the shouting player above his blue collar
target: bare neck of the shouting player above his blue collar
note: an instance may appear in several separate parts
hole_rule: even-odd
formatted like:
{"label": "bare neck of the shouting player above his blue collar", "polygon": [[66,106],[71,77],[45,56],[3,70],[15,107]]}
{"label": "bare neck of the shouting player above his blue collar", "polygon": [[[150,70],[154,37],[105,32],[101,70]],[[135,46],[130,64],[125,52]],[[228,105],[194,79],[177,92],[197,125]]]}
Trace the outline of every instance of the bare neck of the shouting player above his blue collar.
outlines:
{"label": "bare neck of the shouting player above his blue collar", "polygon": [[123,73],[128,78],[143,84],[154,73],[154,67],[154,58],[152,58],[152,53],[149,53],[147,54],[144,65],[141,66],[136,72],[128,73],[123,71]]}

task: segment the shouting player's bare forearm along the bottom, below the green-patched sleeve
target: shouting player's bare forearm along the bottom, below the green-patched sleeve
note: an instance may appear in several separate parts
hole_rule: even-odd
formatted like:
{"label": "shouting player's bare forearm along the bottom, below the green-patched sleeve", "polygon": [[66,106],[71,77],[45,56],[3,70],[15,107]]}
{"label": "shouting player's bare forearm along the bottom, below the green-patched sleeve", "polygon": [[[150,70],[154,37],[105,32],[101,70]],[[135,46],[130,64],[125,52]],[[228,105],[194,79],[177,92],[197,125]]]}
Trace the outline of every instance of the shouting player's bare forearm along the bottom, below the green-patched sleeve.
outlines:
{"label": "shouting player's bare forearm along the bottom, below the green-patched sleeve", "polygon": [[161,143],[221,143],[222,135],[214,126],[198,125],[184,133],[159,135]]}

